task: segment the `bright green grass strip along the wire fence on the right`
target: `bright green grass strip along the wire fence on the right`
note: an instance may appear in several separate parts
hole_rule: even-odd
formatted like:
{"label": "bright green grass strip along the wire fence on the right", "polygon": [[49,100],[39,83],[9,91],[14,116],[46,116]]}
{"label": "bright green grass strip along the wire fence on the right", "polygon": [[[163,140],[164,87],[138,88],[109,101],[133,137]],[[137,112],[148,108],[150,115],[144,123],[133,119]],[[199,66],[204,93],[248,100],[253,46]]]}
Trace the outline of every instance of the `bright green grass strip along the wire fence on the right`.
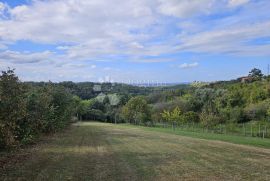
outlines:
{"label": "bright green grass strip along the wire fence on the right", "polygon": [[218,140],[218,141],[225,141],[229,143],[235,144],[242,144],[242,145],[249,145],[249,146],[256,146],[261,148],[270,148],[270,139],[269,138],[258,138],[258,137],[245,137],[245,136],[237,136],[237,135],[229,135],[229,134],[217,134],[217,133],[209,133],[209,132],[194,132],[194,131],[185,131],[176,129],[173,130],[172,128],[159,128],[159,127],[143,127],[143,126],[136,126],[130,124],[121,124],[123,127],[140,127],[141,129],[147,131],[158,131],[162,133],[169,133],[169,134],[176,134],[180,136],[188,136],[192,138],[200,138],[200,139],[207,139],[207,140]]}

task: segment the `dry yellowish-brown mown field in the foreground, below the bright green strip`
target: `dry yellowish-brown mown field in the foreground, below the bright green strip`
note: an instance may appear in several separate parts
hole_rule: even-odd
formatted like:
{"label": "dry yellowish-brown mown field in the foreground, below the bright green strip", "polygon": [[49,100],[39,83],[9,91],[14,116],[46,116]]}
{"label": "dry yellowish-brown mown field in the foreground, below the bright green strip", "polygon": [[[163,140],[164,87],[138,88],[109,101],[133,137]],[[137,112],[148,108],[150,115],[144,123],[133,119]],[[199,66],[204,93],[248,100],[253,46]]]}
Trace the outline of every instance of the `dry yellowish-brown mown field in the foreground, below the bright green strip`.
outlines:
{"label": "dry yellowish-brown mown field in the foreground, below the bright green strip", "polygon": [[270,180],[270,149],[206,139],[77,123],[2,153],[0,180]]}

